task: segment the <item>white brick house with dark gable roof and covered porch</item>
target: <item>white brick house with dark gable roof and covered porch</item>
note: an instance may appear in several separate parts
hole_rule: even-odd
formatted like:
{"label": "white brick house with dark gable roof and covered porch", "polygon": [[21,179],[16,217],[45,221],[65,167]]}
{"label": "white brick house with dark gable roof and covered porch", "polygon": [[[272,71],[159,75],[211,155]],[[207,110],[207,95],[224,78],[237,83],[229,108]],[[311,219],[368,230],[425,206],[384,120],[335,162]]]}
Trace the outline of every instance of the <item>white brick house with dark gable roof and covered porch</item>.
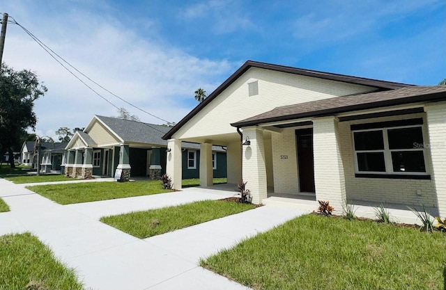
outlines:
{"label": "white brick house with dark gable roof and covered porch", "polygon": [[210,144],[220,144],[228,183],[243,176],[254,203],[424,204],[446,216],[445,114],[446,86],[247,61],[163,136],[167,174],[180,188],[180,144],[193,140],[211,186]]}

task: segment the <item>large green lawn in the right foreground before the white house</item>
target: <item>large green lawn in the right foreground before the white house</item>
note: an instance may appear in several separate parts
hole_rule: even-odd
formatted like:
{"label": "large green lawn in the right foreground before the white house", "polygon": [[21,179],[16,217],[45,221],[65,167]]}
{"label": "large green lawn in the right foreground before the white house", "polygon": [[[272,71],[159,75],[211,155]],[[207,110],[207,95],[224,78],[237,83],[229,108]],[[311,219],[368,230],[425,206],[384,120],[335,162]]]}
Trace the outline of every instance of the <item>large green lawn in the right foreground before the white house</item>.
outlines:
{"label": "large green lawn in the right foreground before the white house", "polygon": [[254,289],[445,289],[445,234],[307,215],[201,260]]}

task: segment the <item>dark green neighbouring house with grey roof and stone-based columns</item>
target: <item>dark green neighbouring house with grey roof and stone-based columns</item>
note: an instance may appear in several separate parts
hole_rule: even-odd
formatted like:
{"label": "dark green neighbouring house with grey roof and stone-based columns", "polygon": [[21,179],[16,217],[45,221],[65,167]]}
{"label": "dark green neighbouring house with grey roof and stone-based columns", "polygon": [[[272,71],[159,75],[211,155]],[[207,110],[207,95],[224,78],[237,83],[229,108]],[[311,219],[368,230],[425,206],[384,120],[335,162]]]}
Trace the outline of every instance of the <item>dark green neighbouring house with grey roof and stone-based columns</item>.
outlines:
{"label": "dark green neighbouring house with grey roof and stone-based columns", "polygon": [[[123,180],[132,177],[159,179],[166,172],[167,141],[162,136],[169,127],[95,115],[84,131],[77,131],[68,145],[62,167],[66,176],[89,178],[92,175]],[[183,143],[185,178],[199,177],[199,145]],[[226,151],[213,146],[213,174],[226,177]],[[181,168],[180,168],[181,170]]]}

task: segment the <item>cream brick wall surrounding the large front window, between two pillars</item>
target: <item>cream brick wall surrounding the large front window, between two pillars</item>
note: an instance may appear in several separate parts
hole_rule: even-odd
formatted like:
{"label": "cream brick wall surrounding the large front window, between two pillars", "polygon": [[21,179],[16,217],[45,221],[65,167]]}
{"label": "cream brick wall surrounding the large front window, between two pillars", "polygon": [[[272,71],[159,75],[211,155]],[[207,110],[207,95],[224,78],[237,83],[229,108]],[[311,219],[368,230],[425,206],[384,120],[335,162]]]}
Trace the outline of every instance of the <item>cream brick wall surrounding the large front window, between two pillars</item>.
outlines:
{"label": "cream brick wall surrounding the large front window, between two pillars", "polygon": [[[385,178],[357,178],[355,177],[355,161],[351,124],[364,124],[369,122],[385,122],[425,117],[424,114],[392,116],[387,118],[374,118],[368,120],[355,120],[339,122],[339,140],[344,175],[346,178],[346,193],[348,200],[364,200],[371,202],[395,204],[424,204],[426,207],[436,207],[436,194],[434,182],[420,179],[385,179]],[[424,142],[429,142],[426,120],[424,118]],[[431,172],[429,150],[426,154],[426,168]],[[420,191],[421,195],[417,194]]]}

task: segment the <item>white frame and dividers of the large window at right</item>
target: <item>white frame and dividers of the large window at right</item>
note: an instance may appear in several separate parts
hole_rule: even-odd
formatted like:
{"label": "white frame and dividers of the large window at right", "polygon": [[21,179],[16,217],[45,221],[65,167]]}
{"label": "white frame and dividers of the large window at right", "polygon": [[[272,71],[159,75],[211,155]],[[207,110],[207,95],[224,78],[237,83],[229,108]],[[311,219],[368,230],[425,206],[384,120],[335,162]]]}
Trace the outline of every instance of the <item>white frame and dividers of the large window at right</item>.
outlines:
{"label": "white frame and dividers of the large window at right", "polygon": [[[420,127],[422,130],[423,142],[426,143],[426,138],[424,134],[424,128],[422,124],[419,125],[408,125],[408,126],[397,126],[397,127],[385,127],[385,128],[373,128],[373,129],[359,129],[351,131],[351,139],[352,139],[352,148],[353,148],[353,159],[355,161],[355,173],[356,174],[376,174],[376,175],[429,175],[429,166],[426,160],[426,148],[413,148],[413,149],[390,149],[389,148],[389,139],[387,136],[387,130],[390,129],[404,129],[404,128],[415,128]],[[383,132],[383,150],[356,150],[355,149],[355,132],[365,132],[365,131],[382,131]],[[422,151],[424,158],[424,168],[426,172],[401,172],[394,171],[392,164],[392,152],[394,151]],[[357,164],[357,153],[360,152],[383,152],[384,153],[384,163],[385,163],[385,171],[360,171],[359,166]]]}

